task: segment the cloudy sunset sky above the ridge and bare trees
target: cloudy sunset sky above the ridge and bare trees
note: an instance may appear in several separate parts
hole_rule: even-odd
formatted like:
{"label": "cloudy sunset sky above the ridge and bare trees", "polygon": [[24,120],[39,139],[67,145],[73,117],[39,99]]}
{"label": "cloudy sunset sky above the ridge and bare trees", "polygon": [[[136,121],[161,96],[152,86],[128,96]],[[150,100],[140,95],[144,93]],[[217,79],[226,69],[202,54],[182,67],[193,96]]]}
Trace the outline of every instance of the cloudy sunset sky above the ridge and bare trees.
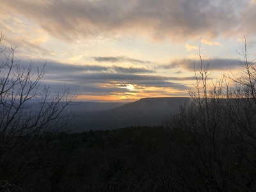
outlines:
{"label": "cloudy sunset sky above the ridge and bare trees", "polygon": [[[189,97],[194,68],[239,74],[256,53],[256,0],[10,0],[0,3],[1,47],[42,67],[42,83],[77,100]],[[3,59],[3,58],[2,58]]]}

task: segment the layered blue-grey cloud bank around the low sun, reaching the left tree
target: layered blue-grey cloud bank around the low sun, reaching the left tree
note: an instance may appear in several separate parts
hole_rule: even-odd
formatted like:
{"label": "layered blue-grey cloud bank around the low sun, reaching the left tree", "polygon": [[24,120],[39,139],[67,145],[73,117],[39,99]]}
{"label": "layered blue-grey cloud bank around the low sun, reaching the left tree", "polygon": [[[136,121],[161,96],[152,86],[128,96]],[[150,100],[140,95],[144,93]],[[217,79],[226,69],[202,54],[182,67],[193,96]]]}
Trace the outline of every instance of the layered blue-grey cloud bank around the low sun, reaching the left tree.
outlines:
{"label": "layered blue-grey cloud bank around the low sun, reaching the left tree", "polygon": [[[21,60],[19,65],[28,65],[29,61]],[[37,68],[42,68],[44,62],[34,61],[33,74]],[[115,65],[102,67],[99,65],[68,65],[49,61],[45,67],[45,76],[42,79],[42,86],[49,84],[52,92],[63,88],[64,84],[70,87],[72,92],[78,95],[131,95],[154,91],[166,93],[170,90],[184,91],[189,87],[182,81],[191,81],[195,77],[174,77],[146,75],[144,72],[151,72],[145,68],[123,68]],[[179,82],[179,83],[177,83]],[[131,84],[134,89],[127,89]]]}

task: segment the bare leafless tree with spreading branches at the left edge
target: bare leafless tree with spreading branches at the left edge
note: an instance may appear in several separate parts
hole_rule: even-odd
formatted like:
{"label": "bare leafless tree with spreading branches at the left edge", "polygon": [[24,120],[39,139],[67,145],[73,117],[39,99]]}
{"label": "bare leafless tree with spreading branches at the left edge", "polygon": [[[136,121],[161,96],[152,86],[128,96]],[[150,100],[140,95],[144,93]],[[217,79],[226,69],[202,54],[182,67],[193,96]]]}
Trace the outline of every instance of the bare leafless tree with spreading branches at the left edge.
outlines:
{"label": "bare leafless tree with spreading branches at the left edge", "polygon": [[[0,44],[3,40],[1,34]],[[23,189],[20,175],[45,166],[52,152],[40,138],[70,129],[74,115],[65,108],[76,95],[66,87],[52,93],[43,86],[45,65],[33,73],[33,63],[15,60],[15,47],[1,48],[0,54],[0,188]]]}

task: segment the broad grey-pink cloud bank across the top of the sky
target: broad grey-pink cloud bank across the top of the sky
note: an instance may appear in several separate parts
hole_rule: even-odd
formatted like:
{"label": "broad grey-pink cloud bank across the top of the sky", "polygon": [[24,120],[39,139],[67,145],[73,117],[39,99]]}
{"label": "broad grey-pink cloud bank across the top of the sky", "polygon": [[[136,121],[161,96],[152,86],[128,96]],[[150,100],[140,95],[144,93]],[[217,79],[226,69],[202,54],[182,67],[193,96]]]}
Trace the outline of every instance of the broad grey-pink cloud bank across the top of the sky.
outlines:
{"label": "broad grey-pink cloud bank across the top of the sky", "polygon": [[3,14],[32,20],[47,33],[67,41],[79,37],[139,35],[182,42],[204,36],[253,35],[253,1],[26,1],[1,2]]}

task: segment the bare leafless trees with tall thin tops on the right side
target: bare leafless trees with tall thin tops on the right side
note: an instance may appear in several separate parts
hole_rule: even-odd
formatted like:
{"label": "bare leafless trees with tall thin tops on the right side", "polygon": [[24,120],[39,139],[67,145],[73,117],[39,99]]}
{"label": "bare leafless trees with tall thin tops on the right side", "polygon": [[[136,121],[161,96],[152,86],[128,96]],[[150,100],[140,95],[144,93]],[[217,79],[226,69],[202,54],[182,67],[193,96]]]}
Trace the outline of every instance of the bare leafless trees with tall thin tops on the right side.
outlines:
{"label": "bare leafless trees with tall thin tops on the right side", "polygon": [[172,159],[182,170],[175,181],[195,191],[256,189],[256,68],[248,61],[246,40],[241,56],[241,76],[216,83],[209,79],[210,62],[200,56],[195,89],[188,91],[193,102],[170,117],[183,151]]}

